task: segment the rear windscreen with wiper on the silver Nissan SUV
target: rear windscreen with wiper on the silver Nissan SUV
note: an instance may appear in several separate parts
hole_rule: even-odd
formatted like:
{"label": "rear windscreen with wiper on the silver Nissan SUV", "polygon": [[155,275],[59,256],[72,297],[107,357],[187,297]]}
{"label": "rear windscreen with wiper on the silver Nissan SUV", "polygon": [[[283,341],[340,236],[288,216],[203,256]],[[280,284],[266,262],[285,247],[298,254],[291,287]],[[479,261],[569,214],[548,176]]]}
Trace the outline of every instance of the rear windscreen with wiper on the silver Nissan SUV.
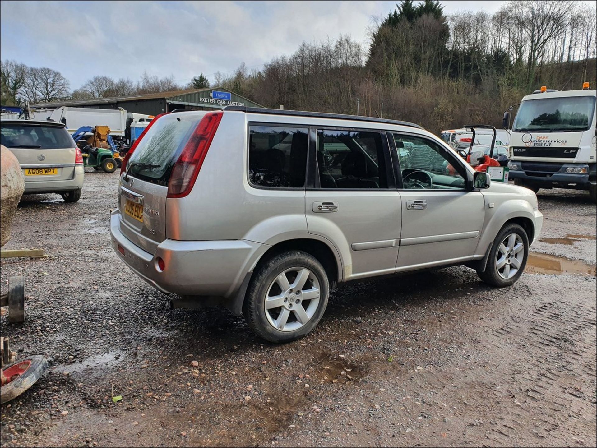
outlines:
{"label": "rear windscreen with wiper on the silver Nissan SUV", "polygon": [[[201,116],[165,115],[153,123],[128,161],[129,174],[153,183],[167,184],[170,172]],[[138,163],[135,166],[133,163]],[[143,164],[158,165],[154,168]]]}

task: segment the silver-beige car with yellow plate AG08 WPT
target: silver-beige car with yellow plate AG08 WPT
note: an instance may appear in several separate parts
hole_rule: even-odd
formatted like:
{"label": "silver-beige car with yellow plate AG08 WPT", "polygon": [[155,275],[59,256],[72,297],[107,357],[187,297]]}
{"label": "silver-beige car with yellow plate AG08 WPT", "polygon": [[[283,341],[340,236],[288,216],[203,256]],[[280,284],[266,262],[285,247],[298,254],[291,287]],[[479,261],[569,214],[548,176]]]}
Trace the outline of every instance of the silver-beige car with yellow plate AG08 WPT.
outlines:
{"label": "silver-beige car with yellow plate AG08 WPT", "polygon": [[2,120],[2,144],[23,169],[24,194],[59,193],[66,202],[81,197],[83,156],[63,123],[42,120]]}

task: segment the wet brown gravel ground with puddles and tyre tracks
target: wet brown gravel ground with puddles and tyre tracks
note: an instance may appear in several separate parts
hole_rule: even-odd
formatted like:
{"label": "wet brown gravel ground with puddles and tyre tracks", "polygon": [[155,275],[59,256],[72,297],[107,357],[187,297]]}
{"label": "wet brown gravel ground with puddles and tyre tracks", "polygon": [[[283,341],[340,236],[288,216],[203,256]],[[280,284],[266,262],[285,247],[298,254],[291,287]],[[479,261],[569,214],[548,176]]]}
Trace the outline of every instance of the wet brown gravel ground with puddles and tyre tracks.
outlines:
{"label": "wet brown gravel ground with puddles and tyre tracks", "polygon": [[1,407],[2,446],[597,444],[586,193],[540,191],[548,255],[511,288],[464,267],[352,283],[312,334],[272,345],[225,310],[171,311],[119,261],[117,183],[90,171],[78,203],[20,203],[5,249],[50,257],[2,259],[2,292],[27,282],[27,320],[2,316],[2,335],[50,368]]}

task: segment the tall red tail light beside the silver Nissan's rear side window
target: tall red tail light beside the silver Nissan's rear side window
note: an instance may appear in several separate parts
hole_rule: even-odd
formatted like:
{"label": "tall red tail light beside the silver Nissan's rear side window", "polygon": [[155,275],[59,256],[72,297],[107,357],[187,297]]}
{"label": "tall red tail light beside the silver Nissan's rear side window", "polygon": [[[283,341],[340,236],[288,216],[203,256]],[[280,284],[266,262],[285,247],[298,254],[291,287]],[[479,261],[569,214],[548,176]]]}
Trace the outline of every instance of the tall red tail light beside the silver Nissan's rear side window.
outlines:
{"label": "tall red tail light beside the silver Nissan's rear side window", "polygon": [[184,197],[193,189],[222,115],[223,112],[209,112],[195,128],[172,169],[168,197]]}

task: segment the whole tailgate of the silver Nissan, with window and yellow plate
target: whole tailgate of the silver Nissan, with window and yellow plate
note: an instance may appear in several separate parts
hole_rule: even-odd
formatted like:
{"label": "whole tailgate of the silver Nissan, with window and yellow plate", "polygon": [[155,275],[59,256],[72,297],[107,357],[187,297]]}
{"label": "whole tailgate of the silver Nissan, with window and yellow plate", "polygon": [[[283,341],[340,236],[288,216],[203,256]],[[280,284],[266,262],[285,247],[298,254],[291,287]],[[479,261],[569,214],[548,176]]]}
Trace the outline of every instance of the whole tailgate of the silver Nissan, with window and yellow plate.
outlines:
{"label": "whole tailgate of the silver Nissan, with window and yellow plate", "polygon": [[166,199],[174,165],[205,113],[172,113],[156,119],[121,175],[122,234],[151,254],[166,239]]}

